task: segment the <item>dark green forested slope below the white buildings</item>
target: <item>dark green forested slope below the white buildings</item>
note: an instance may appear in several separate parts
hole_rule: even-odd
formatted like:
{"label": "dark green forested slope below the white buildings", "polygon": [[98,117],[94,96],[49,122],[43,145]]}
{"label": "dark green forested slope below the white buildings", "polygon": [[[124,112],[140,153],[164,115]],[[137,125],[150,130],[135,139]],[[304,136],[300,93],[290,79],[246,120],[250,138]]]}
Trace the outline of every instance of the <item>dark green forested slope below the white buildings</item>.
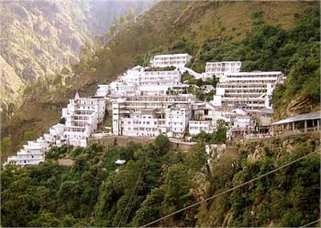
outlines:
{"label": "dark green forested slope below the white buildings", "polygon": [[[319,150],[317,139],[270,139],[243,142],[237,156],[219,157],[208,155],[204,142],[174,151],[163,135],[144,145],[52,148],[39,165],[2,169],[1,225],[139,227],[315,152],[151,225],[299,227],[320,216]],[[59,165],[62,157],[75,164]],[[127,162],[116,166],[117,159]]]}

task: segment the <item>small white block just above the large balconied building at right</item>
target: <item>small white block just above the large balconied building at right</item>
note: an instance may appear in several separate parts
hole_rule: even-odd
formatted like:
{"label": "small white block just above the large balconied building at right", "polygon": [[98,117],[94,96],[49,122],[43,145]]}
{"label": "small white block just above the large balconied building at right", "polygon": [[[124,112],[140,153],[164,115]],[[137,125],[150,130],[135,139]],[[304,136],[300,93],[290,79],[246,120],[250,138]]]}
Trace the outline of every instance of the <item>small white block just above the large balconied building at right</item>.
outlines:
{"label": "small white block just above the large balconied building at right", "polygon": [[225,72],[240,72],[241,61],[206,62],[205,75],[221,77]]}

